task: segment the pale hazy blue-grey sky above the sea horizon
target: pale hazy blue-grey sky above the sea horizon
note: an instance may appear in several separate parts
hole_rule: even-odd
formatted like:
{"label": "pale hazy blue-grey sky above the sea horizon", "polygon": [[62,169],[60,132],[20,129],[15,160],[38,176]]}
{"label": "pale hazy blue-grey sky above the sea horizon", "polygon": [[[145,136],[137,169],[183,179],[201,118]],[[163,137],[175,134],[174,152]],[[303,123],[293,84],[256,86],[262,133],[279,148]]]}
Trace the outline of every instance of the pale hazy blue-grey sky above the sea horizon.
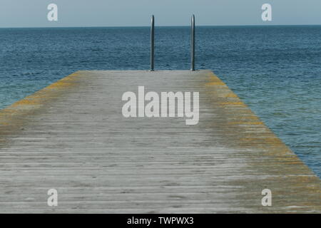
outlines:
{"label": "pale hazy blue-grey sky above the sea horizon", "polygon": [[[321,24],[321,0],[0,0],[0,27]],[[58,5],[58,21],[47,6]],[[272,5],[272,21],[261,6]]]}

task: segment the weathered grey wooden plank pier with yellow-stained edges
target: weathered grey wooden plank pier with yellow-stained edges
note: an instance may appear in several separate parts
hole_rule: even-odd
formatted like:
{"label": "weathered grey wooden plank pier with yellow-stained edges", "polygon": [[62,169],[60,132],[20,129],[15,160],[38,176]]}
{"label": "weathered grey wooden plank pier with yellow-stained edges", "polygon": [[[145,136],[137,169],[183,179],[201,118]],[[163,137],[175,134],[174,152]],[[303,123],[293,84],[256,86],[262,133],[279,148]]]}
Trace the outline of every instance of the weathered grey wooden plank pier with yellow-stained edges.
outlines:
{"label": "weathered grey wooden plank pier with yellow-stained edges", "polygon": [[[125,118],[138,86],[198,91],[198,124]],[[78,71],[0,110],[1,213],[320,213],[320,199],[320,178],[211,71]]]}

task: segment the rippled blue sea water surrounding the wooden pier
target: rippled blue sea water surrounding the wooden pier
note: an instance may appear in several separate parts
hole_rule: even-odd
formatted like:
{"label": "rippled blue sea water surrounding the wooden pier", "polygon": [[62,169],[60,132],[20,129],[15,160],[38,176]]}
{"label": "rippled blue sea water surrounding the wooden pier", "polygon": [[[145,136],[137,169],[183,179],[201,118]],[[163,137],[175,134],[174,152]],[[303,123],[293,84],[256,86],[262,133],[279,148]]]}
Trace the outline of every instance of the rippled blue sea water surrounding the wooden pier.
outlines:
{"label": "rippled blue sea water surrounding the wooden pier", "polygon": [[[188,27],[156,28],[156,69],[189,69]],[[321,26],[198,27],[213,70],[321,177]],[[149,28],[1,28],[0,108],[78,70],[148,69]]]}

